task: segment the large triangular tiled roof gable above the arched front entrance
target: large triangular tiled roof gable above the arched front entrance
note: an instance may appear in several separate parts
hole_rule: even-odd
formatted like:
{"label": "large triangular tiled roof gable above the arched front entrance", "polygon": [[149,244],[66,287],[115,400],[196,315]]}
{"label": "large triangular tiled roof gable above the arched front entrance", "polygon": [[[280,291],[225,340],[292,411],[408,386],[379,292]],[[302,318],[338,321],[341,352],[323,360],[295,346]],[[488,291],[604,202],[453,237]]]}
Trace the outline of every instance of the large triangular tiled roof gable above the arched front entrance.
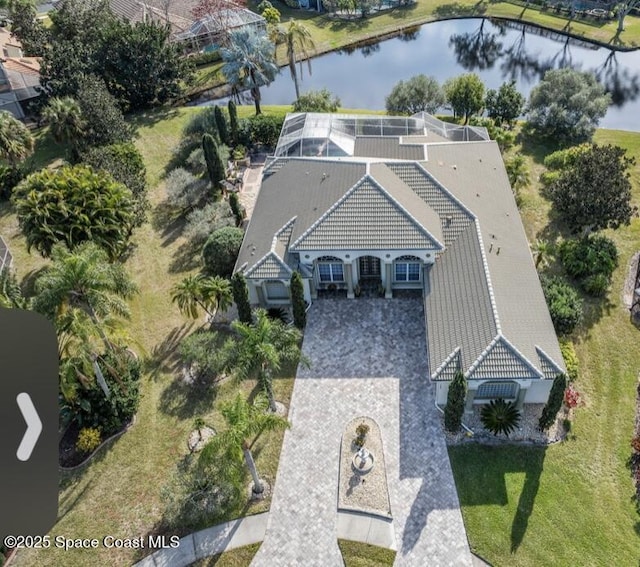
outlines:
{"label": "large triangular tiled roof gable above the arched front entrance", "polygon": [[366,175],[310,226],[291,250],[435,248],[442,245]]}

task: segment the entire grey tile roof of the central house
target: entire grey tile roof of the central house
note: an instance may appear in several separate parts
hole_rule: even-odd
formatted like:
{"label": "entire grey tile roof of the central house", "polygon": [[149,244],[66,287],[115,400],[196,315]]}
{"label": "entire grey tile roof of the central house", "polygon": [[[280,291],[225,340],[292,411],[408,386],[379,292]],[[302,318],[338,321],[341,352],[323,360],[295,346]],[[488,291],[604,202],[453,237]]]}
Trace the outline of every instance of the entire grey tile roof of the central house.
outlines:
{"label": "entire grey tile roof of the central house", "polygon": [[[297,251],[439,249],[425,277],[432,379],[551,379],[564,363],[498,146],[450,141],[482,131],[445,134],[413,146],[426,148],[422,162],[271,160],[237,269],[288,278]],[[355,140],[373,154],[399,147],[397,134]]]}

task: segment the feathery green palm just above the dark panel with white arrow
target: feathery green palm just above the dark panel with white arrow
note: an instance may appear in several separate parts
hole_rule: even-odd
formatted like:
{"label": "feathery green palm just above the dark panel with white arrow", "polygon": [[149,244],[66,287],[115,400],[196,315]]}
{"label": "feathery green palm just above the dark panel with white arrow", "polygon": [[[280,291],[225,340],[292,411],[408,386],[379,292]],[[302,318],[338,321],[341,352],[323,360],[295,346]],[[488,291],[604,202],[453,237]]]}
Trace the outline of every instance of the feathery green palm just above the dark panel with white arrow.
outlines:
{"label": "feathery green palm just above the dark panel with white arrow", "polygon": [[85,242],[69,251],[58,244],[51,252],[53,263],[36,280],[34,307],[52,320],[67,309],[84,311],[95,325],[105,347],[112,348],[105,320],[115,315],[129,317],[126,303],[137,291],[121,264],[109,263],[107,253]]}

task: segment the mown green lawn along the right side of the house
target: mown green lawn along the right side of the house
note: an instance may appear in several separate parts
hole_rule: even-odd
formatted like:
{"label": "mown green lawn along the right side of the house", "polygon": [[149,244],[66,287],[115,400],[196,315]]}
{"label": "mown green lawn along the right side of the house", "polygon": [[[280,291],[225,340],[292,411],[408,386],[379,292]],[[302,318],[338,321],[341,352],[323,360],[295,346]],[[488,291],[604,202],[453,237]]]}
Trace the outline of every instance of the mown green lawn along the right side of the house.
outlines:
{"label": "mown green lawn along the right side of the house", "polygon": [[[601,130],[600,143],[615,143],[640,158],[640,133]],[[546,148],[525,145],[533,179]],[[640,166],[633,171],[640,203]],[[537,183],[523,192],[530,241],[553,240],[557,220]],[[637,565],[640,517],[631,498],[626,460],[640,368],[639,331],[621,298],[631,256],[640,250],[640,220],[608,231],[620,266],[606,300],[588,300],[575,333],[580,360],[576,410],[569,439],[544,448],[462,446],[449,450],[469,542],[496,566]]]}

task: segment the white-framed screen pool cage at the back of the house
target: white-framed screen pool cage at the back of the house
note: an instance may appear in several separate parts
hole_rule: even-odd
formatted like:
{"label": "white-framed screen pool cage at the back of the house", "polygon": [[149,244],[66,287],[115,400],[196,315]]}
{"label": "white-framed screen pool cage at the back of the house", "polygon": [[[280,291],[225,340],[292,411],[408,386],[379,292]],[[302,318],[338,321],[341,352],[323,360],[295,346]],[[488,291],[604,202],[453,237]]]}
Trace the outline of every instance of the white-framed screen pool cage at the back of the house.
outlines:
{"label": "white-framed screen pool cage at the back of the house", "polygon": [[357,137],[407,138],[406,143],[470,142],[488,140],[486,128],[460,126],[421,112],[413,116],[359,114],[288,114],[275,157],[347,157],[355,152]]}

